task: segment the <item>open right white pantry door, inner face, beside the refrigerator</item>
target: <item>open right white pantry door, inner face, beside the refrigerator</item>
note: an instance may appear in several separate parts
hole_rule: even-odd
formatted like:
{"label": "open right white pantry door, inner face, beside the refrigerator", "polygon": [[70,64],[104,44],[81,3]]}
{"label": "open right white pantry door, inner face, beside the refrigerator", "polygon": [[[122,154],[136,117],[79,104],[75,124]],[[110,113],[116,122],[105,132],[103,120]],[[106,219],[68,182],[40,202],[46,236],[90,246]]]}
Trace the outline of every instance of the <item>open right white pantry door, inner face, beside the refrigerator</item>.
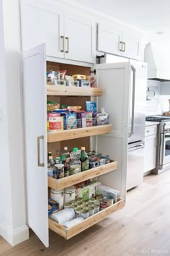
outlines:
{"label": "open right white pantry door, inner face, beside the refrigerator", "polygon": [[108,187],[120,190],[126,196],[126,171],[128,156],[128,116],[130,90],[130,64],[97,64],[97,86],[103,95],[98,98],[98,110],[109,114],[112,132],[98,135],[96,150],[118,161],[116,171],[99,176],[98,180]]}

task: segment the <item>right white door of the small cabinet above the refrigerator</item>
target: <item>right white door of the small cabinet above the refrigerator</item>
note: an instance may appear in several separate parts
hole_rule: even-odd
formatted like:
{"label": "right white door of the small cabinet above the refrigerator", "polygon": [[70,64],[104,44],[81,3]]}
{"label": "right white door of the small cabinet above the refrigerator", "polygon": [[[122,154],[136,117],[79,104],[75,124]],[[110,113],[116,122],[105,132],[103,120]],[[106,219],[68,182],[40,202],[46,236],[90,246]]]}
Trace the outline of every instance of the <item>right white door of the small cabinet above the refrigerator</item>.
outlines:
{"label": "right white door of the small cabinet above the refrigerator", "polygon": [[134,34],[135,32],[123,33],[122,56],[139,60],[141,58],[140,38]]}

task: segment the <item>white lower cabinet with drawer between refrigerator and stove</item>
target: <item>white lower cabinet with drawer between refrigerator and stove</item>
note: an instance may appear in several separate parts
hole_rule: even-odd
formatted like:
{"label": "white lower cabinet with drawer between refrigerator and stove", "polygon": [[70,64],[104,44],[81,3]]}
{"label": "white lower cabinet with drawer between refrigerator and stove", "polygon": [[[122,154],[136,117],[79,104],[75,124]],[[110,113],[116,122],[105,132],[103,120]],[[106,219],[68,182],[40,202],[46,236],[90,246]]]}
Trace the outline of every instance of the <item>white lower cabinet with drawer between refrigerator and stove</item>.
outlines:
{"label": "white lower cabinet with drawer between refrigerator and stove", "polygon": [[156,168],[157,126],[146,127],[144,173]]}

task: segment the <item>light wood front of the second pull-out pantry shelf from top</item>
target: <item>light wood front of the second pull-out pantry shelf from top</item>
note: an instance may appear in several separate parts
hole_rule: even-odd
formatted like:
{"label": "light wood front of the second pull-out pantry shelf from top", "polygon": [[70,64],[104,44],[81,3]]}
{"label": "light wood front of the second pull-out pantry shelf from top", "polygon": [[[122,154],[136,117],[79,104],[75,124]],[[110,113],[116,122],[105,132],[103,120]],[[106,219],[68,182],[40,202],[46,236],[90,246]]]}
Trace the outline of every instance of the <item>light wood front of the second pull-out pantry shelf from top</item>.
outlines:
{"label": "light wood front of the second pull-out pantry shelf from top", "polygon": [[48,142],[58,142],[63,140],[72,140],[81,137],[93,135],[103,135],[112,130],[112,124],[99,125],[97,127],[86,127],[79,129],[66,129],[53,134],[48,134]]}

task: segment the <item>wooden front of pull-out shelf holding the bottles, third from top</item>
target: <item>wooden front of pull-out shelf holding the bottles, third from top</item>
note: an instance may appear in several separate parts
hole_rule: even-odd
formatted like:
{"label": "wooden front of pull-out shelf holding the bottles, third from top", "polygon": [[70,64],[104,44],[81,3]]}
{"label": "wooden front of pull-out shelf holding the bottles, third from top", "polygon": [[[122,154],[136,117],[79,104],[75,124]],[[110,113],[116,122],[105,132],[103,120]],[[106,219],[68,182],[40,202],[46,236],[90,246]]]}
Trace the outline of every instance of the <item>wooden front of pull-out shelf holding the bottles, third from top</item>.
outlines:
{"label": "wooden front of pull-out shelf holding the bottles, third from top", "polygon": [[87,171],[82,171],[79,174],[74,174],[63,179],[54,179],[48,176],[48,187],[59,190],[65,187],[70,187],[74,184],[84,182],[87,179],[92,179],[97,176],[107,174],[109,171],[115,171],[117,169],[117,161],[112,161],[111,163],[104,164],[104,166],[98,166],[96,168],[91,168]]}

